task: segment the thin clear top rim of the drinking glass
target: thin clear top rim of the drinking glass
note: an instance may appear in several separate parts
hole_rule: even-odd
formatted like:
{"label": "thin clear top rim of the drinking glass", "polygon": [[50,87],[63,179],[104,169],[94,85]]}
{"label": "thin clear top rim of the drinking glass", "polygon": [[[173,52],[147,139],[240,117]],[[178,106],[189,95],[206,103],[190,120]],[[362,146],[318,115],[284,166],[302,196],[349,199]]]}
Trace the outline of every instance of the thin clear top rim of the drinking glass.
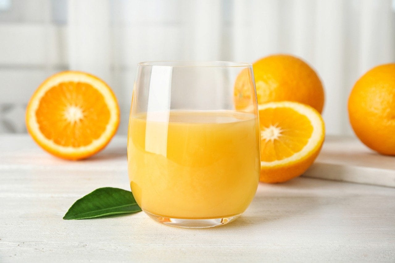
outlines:
{"label": "thin clear top rim of the drinking glass", "polygon": [[220,60],[159,60],[139,62],[137,66],[160,66],[171,68],[245,68],[252,67],[252,64]]}

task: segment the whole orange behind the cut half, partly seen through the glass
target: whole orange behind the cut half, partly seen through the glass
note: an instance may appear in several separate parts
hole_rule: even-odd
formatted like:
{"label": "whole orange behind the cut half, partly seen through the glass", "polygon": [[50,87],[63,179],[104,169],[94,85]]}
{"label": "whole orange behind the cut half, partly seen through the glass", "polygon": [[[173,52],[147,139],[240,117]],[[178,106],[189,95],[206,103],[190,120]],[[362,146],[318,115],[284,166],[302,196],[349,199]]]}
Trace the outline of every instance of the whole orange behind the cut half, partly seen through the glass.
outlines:
{"label": "whole orange behind the cut half, partly seen through the glass", "polygon": [[[322,113],[324,88],[317,73],[303,60],[292,55],[275,54],[252,64],[258,104],[271,101],[297,101]],[[249,101],[249,78],[242,71],[235,83],[235,106]]]}

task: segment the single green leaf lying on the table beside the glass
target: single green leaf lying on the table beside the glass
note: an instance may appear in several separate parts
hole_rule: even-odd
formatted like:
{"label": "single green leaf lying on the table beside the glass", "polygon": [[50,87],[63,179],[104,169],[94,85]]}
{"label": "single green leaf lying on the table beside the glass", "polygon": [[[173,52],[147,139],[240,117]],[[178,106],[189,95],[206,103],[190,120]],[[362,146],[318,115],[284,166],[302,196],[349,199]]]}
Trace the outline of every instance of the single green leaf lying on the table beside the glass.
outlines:
{"label": "single green leaf lying on the table beside the glass", "polygon": [[132,192],[120,188],[103,187],[75,201],[63,219],[94,218],[140,211]]}

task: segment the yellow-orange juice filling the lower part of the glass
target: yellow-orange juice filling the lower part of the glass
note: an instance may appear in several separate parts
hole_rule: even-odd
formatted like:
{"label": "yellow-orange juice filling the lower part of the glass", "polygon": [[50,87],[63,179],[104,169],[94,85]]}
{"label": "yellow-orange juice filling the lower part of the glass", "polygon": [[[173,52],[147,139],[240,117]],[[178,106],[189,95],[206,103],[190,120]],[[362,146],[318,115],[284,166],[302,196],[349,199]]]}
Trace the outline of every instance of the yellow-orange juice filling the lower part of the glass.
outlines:
{"label": "yellow-orange juice filling the lower part of the glass", "polygon": [[231,111],[170,111],[132,116],[130,187],[138,205],[166,218],[243,213],[260,173],[257,120]]}

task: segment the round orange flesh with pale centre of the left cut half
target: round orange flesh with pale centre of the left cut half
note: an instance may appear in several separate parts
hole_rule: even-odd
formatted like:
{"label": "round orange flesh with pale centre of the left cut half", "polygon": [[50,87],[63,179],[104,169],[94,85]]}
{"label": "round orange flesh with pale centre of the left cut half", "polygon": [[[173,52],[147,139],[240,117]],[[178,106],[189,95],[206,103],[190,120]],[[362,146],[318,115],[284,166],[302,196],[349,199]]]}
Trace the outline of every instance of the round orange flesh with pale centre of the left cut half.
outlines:
{"label": "round orange flesh with pale centre of the left cut half", "polygon": [[36,118],[47,139],[65,147],[81,147],[98,139],[110,120],[103,95],[81,82],[62,82],[40,100]]}

